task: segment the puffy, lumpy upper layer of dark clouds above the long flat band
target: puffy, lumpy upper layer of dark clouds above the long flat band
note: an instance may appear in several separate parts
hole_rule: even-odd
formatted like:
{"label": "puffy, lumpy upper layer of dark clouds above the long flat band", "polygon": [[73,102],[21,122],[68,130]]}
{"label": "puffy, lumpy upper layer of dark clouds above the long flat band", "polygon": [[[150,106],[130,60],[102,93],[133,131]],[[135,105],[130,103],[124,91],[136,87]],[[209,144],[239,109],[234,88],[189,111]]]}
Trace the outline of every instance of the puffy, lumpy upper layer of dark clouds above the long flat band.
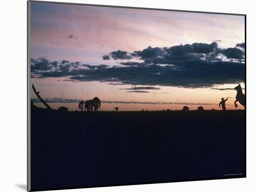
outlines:
{"label": "puffy, lumpy upper layer of dark clouds above the long flat band", "polygon": [[[236,46],[243,47],[244,43],[237,44]],[[109,56],[115,60],[131,58],[138,58],[143,60],[143,62],[120,63],[124,66],[141,66],[147,64],[177,64],[187,61],[191,62],[200,60],[222,61],[222,57],[218,56],[225,56],[228,59],[242,60],[244,58],[244,50],[241,50],[237,47],[220,49],[218,48],[218,44],[216,42],[211,44],[193,43],[191,45],[175,45],[162,48],[148,46],[142,51],[134,51],[129,54],[127,51],[112,51],[109,53]]]}

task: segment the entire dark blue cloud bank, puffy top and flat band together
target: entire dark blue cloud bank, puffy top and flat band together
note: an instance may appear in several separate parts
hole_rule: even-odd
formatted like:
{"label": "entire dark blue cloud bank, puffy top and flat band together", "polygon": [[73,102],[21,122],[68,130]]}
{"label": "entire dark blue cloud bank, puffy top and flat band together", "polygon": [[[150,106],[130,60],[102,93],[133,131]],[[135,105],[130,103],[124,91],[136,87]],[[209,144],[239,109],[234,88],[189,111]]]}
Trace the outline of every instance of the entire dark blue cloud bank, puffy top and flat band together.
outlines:
{"label": "entire dark blue cloud bank, puffy top and flat band together", "polygon": [[[212,51],[212,52],[211,52]],[[50,62],[31,59],[33,77],[67,77],[75,81],[140,86],[214,87],[216,84],[245,80],[244,50],[220,49],[217,43],[193,43],[172,47],[147,47],[142,51],[113,51],[114,59],[137,58],[142,62],[120,62],[119,66],[90,65],[79,62]],[[40,70],[39,70],[40,69]]]}

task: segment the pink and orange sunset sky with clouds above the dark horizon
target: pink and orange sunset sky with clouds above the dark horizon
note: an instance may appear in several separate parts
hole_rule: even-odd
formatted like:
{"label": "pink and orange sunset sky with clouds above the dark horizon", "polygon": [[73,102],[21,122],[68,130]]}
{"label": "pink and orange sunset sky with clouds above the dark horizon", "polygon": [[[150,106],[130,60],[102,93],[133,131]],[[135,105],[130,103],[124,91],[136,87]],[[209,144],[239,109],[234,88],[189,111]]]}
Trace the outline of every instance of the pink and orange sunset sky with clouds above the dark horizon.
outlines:
{"label": "pink and orange sunset sky with clouds above the dark horizon", "polygon": [[31,83],[54,109],[95,96],[101,110],[220,109],[222,97],[235,109],[244,30],[237,15],[31,2]]}

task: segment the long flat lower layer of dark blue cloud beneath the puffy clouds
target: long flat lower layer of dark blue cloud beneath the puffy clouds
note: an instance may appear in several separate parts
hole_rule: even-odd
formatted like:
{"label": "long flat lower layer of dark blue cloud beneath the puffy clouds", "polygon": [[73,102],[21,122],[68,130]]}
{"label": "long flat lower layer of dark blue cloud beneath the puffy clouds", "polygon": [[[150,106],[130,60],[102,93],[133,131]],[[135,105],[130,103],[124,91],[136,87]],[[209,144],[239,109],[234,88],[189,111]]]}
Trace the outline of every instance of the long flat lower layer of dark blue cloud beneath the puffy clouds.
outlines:
{"label": "long flat lower layer of dark blue cloud beneath the puffy clouds", "polygon": [[[232,70],[231,70],[232,69]],[[39,73],[42,77],[66,77],[77,81],[178,87],[212,87],[244,82],[245,65],[238,62],[187,62],[178,66],[98,67]]]}

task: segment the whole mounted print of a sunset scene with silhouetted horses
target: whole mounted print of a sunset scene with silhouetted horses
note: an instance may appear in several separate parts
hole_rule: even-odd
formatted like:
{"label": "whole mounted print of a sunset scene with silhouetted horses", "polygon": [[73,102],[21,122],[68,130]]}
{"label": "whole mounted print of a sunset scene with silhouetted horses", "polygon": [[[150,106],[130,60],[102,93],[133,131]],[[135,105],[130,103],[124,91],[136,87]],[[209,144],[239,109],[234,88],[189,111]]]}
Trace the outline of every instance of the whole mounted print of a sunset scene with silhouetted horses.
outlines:
{"label": "whole mounted print of a sunset scene with silhouetted horses", "polygon": [[28,191],[246,177],[245,17],[28,1]]}

